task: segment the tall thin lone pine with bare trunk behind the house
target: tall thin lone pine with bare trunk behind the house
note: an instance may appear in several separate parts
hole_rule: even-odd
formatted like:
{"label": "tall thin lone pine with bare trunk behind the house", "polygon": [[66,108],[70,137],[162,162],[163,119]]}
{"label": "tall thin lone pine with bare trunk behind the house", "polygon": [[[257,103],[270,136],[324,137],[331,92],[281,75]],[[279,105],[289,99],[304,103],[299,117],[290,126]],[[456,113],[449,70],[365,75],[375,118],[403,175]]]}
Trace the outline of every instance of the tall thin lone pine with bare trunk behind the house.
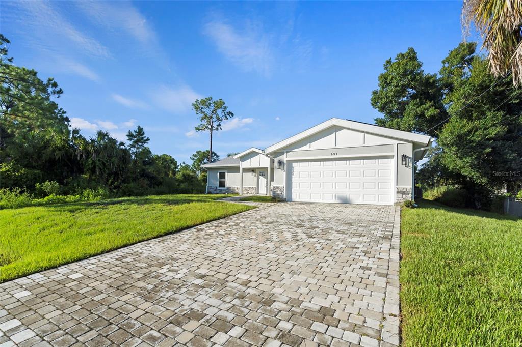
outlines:
{"label": "tall thin lone pine with bare trunk behind the house", "polygon": [[210,133],[210,149],[208,152],[208,162],[212,162],[210,153],[212,152],[212,133],[221,130],[221,123],[227,119],[234,117],[234,114],[228,110],[222,99],[213,100],[212,96],[201,100],[196,100],[192,104],[192,109],[199,116],[201,123],[195,127],[196,131],[208,131]]}

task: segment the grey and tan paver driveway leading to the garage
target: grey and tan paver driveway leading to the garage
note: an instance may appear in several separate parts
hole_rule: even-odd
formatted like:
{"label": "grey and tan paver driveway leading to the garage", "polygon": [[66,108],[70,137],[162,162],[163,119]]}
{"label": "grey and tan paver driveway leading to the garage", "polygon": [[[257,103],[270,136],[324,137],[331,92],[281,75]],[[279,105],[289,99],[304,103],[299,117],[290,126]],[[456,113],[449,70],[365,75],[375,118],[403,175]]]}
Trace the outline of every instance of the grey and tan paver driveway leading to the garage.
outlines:
{"label": "grey and tan paver driveway leading to the garage", "polygon": [[0,345],[398,345],[398,257],[398,207],[263,204],[0,284]]}

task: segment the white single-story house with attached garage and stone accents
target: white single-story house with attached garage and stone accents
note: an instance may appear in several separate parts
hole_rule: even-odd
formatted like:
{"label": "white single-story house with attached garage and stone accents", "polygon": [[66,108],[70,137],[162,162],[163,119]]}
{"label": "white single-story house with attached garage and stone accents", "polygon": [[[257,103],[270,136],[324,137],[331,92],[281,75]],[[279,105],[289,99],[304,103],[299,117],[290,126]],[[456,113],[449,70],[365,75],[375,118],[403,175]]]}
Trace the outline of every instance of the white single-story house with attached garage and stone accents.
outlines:
{"label": "white single-story house with attached garage and stone accents", "polygon": [[266,194],[299,202],[400,204],[429,136],[331,118],[276,144],[203,165],[207,193]]}

